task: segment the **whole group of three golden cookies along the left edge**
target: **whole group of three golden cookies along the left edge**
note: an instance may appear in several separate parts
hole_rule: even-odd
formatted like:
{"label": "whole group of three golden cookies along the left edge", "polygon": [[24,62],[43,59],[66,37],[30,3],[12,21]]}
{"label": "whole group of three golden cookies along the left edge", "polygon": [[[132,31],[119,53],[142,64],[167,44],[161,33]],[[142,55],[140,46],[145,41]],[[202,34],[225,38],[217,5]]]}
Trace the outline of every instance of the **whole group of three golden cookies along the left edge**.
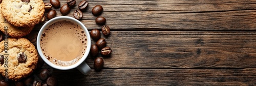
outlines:
{"label": "whole group of three golden cookies along the left edge", "polygon": [[[23,37],[40,22],[44,12],[42,0],[0,2],[0,30],[5,33],[5,40],[0,42],[0,73],[4,77],[20,80],[29,76],[36,68],[36,48]],[[8,39],[6,35],[9,36]]]}

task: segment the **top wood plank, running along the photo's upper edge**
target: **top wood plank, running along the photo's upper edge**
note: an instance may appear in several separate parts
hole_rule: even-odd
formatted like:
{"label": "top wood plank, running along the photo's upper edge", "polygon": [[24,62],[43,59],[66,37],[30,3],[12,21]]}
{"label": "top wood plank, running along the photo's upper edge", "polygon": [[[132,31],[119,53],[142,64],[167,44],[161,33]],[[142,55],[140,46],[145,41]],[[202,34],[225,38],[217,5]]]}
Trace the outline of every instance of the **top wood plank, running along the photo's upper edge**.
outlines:
{"label": "top wood plank, running along the photo's upper edge", "polygon": [[[49,2],[49,1],[44,1]],[[61,5],[66,1],[60,1]],[[91,30],[100,28],[91,13],[95,5],[102,5],[106,25],[113,30],[255,30],[256,1],[88,1],[81,22]],[[77,4],[79,1],[77,2]],[[61,16],[59,8],[57,16]],[[71,10],[67,16],[73,16]],[[46,15],[46,14],[45,14]],[[39,30],[42,24],[37,25]]]}

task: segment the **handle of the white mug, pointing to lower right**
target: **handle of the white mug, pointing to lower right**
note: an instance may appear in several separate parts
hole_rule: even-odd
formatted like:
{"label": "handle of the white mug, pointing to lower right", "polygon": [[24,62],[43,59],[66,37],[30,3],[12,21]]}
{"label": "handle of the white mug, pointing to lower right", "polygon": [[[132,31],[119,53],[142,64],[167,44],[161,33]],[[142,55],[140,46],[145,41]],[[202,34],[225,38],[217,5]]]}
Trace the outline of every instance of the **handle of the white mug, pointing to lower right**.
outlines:
{"label": "handle of the white mug, pointing to lower right", "polygon": [[87,75],[91,72],[91,68],[83,61],[78,67],[76,67],[83,75]]}

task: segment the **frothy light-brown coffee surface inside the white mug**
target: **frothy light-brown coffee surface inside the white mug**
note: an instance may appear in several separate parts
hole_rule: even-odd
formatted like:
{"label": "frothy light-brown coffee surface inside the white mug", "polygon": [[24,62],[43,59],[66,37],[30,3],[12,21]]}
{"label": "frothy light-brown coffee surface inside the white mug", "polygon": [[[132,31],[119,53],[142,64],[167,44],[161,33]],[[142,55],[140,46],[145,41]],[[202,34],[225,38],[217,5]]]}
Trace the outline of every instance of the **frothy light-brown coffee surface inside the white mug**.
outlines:
{"label": "frothy light-brown coffee surface inside the white mug", "polygon": [[79,61],[87,49],[84,30],[67,20],[47,27],[40,38],[40,47],[45,57],[57,66],[71,66]]}

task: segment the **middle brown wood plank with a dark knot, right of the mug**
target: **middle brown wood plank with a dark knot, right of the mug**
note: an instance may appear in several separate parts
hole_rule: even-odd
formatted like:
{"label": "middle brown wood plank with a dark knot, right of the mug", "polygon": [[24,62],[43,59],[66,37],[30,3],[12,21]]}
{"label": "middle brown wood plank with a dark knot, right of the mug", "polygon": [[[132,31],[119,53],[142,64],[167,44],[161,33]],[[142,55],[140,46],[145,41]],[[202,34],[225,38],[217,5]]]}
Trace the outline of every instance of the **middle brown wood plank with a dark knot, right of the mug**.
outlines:
{"label": "middle brown wood plank with a dark knot, right of the mug", "polygon": [[[256,68],[255,32],[112,31],[101,37],[113,50],[104,68]],[[93,60],[86,60],[91,68]]]}

